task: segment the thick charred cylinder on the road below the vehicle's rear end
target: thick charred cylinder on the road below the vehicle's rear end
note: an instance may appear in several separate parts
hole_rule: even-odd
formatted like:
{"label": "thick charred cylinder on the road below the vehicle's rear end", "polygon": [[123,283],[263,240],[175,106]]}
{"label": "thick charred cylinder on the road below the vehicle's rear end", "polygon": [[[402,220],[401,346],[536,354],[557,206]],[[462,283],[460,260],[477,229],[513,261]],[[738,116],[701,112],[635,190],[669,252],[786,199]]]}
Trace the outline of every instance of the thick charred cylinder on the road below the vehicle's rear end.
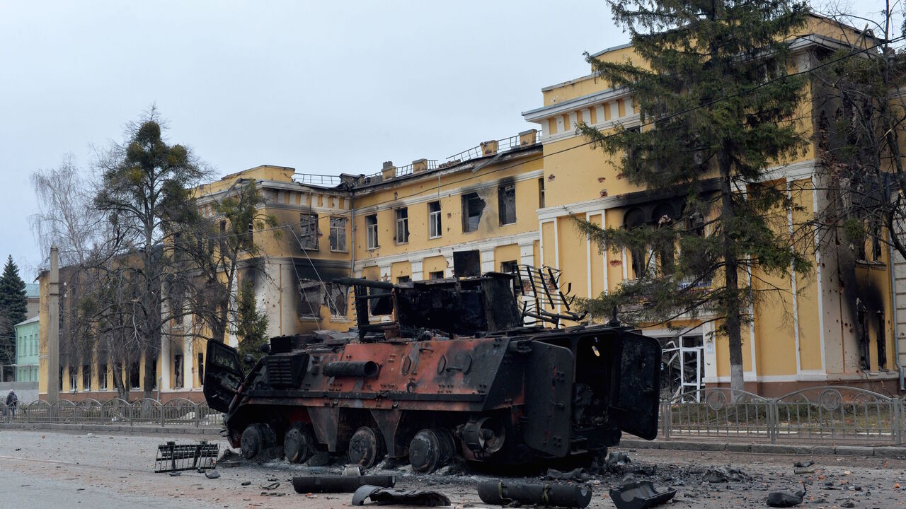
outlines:
{"label": "thick charred cylinder on the road below the vehicle's rear end", "polygon": [[478,497],[485,504],[546,505],[585,507],[592,502],[592,488],[586,485],[549,485],[490,481],[478,484]]}

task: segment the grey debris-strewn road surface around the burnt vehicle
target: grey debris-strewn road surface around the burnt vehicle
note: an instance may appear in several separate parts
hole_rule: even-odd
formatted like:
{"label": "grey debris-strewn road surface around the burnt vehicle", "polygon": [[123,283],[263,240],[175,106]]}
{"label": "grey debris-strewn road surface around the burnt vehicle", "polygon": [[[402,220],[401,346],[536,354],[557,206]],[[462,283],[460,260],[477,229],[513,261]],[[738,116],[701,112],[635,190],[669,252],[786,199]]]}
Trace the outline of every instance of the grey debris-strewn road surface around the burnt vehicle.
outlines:
{"label": "grey debris-strewn road surface around the burnt vehicle", "polygon": [[[174,507],[306,508],[351,507],[350,494],[296,494],[294,475],[338,474],[342,461],[331,466],[242,462],[220,466],[220,477],[197,472],[178,476],[155,474],[157,446],[168,439],[198,436],[135,436],[96,431],[65,432],[3,429],[0,432],[0,507]],[[219,441],[221,450],[228,447]],[[677,495],[662,507],[766,507],[768,493],[805,488],[801,507],[906,507],[906,449],[903,456],[794,456],[728,451],[683,451],[617,448],[630,461],[606,468],[552,478],[544,471],[511,478],[505,472],[476,474],[453,465],[433,475],[415,475],[409,466],[375,467],[368,474],[397,475],[397,488],[429,489],[447,495],[457,509],[490,507],[477,496],[476,485],[503,476],[508,481],[538,483],[584,482],[593,490],[593,508],[612,508],[608,490],[627,475],[649,479]],[[795,474],[796,461],[814,461]],[[559,477],[552,473],[553,477]],[[274,479],[273,481],[270,479]],[[247,485],[243,485],[247,483]],[[274,486],[267,489],[265,486]],[[850,505],[852,504],[852,505]]]}

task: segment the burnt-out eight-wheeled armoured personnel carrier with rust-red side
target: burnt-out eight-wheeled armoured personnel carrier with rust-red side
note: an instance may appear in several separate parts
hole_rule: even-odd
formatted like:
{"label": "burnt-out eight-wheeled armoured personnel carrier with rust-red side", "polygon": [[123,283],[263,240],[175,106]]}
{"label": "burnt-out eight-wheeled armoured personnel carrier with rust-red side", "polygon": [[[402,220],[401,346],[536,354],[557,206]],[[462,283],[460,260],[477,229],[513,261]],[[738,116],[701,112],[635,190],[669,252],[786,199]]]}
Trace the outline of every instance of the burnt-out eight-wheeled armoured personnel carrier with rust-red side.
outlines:
{"label": "burnt-out eight-wheeled armoured personnel carrier with rust-red side", "polygon": [[559,327],[582,317],[552,269],[341,283],[355,291],[349,333],[273,338],[247,373],[208,342],[205,398],[244,456],[408,457],[430,472],[454,455],[528,463],[657,435],[660,343],[615,321]]}

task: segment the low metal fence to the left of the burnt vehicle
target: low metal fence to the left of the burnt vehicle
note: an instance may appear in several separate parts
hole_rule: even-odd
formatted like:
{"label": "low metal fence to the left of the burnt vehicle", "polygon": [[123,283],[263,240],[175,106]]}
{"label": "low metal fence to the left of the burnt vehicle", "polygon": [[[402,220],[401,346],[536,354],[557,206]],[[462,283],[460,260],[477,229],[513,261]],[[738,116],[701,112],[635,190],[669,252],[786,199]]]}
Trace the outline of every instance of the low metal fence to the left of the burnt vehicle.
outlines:
{"label": "low metal fence to the left of the burnt vehicle", "polygon": [[95,424],[168,427],[221,427],[223,415],[207,406],[188,399],[97,399],[70,401],[61,399],[51,405],[43,399],[27,405],[7,407],[0,402],[0,422]]}

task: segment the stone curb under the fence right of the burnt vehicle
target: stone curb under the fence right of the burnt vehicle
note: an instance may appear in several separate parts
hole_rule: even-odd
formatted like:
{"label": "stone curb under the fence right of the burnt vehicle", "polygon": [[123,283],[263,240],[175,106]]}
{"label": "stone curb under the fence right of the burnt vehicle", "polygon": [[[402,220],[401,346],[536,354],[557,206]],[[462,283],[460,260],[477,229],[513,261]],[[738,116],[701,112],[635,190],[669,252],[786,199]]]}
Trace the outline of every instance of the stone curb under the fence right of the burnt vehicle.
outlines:
{"label": "stone curb under the fence right of the burnt vehicle", "polygon": [[635,449],[663,449],[676,451],[727,451],[733,453],[865,456],[906,459],[906,447],[894,446],[805,446],[791,444],[760,444],[744,442],[692,442],[686,440],[637,440],[627,438],[619,447]]}

